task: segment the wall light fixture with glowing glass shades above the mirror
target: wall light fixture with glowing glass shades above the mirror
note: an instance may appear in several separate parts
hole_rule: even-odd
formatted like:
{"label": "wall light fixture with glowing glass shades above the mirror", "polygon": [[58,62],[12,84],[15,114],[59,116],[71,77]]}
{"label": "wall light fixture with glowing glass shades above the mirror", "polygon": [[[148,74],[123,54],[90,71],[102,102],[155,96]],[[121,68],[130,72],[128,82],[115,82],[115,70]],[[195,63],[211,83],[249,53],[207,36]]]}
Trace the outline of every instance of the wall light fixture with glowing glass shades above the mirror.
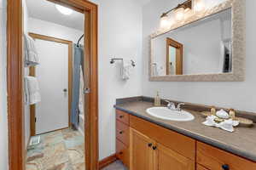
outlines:
{"label": "wall light fixture with glowing glass shades above the mirror", "polygon": [[[170,26],[172,26],[172,23],[175,20],[182,21],[185,17],[185,14],[192,9],[192,6],[195,11],[197,12],[201,11],[205,8],[204,0],[187,0],[184,3],[178,4],[177,7],[171,8],[166,13],[163,13],[160,16],[160,28],[168,29]],[[171,12],[174,13],[174,16],[175,16],[174,20],[173,19],[171,20],[168,16],[168,14],[170,14]]]}

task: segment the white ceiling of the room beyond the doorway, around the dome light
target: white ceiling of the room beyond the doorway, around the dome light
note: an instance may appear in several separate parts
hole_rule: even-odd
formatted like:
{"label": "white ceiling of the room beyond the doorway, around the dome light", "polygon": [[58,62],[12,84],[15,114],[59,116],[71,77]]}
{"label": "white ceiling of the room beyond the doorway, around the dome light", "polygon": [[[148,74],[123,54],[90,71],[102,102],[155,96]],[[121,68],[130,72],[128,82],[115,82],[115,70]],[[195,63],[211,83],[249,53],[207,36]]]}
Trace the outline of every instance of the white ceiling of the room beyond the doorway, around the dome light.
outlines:
{"label": "white ceiling of the room beyond the doorway, around the dome light", "polygon": [[71,15],[61,14],[55,8],[55,3],[47,0],[26,0],[26,6],[29,17],[84,31],[84,14],[76,11]]}

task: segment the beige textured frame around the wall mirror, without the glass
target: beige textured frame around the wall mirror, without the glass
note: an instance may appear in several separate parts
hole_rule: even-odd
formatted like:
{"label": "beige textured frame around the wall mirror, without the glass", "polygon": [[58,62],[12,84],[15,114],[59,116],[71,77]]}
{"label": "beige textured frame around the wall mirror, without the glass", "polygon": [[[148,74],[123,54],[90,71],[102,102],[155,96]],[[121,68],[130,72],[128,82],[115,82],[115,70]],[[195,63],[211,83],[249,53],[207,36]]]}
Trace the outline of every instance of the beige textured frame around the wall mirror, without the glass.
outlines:
{"label": "beige textured frame around the wall mirror, without the glass", "polygon": [[[182,23],[177,22],[170,29],[156,31],[149,36],[149,59],[148,73],[150,82],[243,82],[245,80],[246,59],[246,2],[245,0],[227,0],[215,7],[206,9],[199,14],[191,15]],[[177,30],[179,27],[187,26],[195,21],[204,19],[212,14],[218,14],[226,9],[231,9],[232,14],[232,72],[216,74],[194,74],[194,75],[167,75],[155,77],[152,67],[153,40],[169,31]]]}

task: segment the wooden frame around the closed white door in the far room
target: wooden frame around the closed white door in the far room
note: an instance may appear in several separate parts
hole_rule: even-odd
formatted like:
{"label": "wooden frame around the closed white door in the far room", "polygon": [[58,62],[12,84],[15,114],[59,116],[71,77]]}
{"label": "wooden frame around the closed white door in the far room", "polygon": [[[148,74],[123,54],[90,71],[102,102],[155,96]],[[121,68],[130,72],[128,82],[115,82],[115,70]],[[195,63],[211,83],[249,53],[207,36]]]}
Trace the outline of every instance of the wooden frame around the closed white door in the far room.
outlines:
{"label": "wooden frame around the closed white door in the far room", "polygon": [[[44,40],[48,42],[58,42],[67,44],[68,46],[68,127],[71,127],[71,102],[73,94],[73,42],[64,40],[56,37],[44,36],[41,34],[36,34],[29,32],[28,35],[33,39]],[[29,68],[29,76],[36,77],[36,69],[34,66]],[[36,104],[30,105],[30,135],[36,135]]]}

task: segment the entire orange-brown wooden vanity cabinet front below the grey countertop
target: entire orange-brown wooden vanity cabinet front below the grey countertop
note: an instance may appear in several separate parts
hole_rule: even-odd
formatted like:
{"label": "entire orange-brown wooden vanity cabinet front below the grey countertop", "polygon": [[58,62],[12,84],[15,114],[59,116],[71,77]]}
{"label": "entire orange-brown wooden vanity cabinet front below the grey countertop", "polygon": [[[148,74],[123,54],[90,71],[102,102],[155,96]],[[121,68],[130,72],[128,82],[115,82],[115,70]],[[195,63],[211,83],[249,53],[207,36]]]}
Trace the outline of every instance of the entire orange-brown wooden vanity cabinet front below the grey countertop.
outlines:
{"label": "entire orange-brown wooden vanity cabinet front below the grey countertop", "polygon": [[256,170],[256,162],[124,111],[116,126],[116,156],[130,170]]}

